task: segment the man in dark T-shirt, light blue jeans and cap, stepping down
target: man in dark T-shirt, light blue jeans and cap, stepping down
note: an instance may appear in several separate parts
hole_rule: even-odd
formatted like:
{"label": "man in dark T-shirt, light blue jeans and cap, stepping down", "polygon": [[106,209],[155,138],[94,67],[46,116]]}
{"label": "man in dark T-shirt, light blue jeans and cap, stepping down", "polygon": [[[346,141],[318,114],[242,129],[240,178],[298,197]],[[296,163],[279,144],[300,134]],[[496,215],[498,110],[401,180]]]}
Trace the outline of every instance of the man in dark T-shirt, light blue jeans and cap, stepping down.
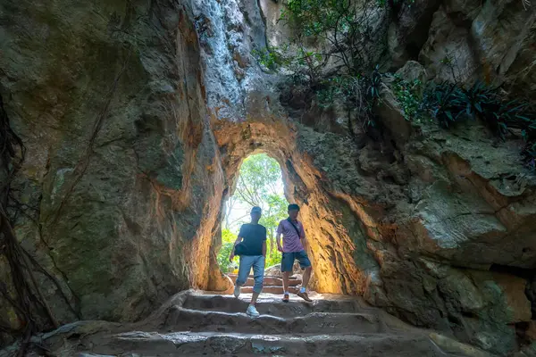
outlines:
{"label": "man in dark T-shirt, light blue jeans and cap, stepping down", "polygon": [[241,245],[239,276],[235,283],[234,295],[239,297],[240,286],[246,283],[247,276],[251,267],[253,267],[253,278],[255,285],[253,286],[253,295],[251,303],[247,307],[247,315],[258,317],[259,312],[256,311],[255,302],[261,291],[263,291],[264,280],[264,259],[266,257],[266,228],[259,224],[261,219],[261,207],[253,207],[251,209],[251,223],[247,223],[240,227],[239,237],[235,241],[234,248],[230,252],[230,261],[235,256],[237,245]]}

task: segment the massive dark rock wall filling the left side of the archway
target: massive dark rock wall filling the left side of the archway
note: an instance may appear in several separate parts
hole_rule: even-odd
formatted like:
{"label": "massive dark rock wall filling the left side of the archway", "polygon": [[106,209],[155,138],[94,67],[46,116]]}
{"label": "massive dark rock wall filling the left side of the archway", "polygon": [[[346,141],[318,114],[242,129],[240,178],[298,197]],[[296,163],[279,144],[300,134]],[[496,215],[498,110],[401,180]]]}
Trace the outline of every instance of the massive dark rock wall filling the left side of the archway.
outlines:
{"label": "massive dark rock wall filling the left side of the archway", "polygon": [[16,232],[62,282],[69,308],[37,273],[57,319],[138,320],[207,287],[211,241],[200,237],[212,236],[223,182],[191,10],[1,7],[1,94],[27,148]]}

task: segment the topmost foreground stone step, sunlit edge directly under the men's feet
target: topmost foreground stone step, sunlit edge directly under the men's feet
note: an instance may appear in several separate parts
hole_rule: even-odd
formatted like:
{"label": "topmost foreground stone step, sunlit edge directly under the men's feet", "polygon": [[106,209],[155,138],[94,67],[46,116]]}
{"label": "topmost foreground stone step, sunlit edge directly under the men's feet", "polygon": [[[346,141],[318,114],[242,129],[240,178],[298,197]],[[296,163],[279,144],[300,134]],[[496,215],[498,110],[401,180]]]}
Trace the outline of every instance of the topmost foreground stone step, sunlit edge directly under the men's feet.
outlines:
{"label": "topmost foreground stone step, sunlit edge directly under the men's feet", "polygon": [[[313,303],[306,303],[296,295],[290,295],[290,302],[283,303],[282,295],[261,294],[255,304],[257,311],[264,315],[272,315],[282,318],[306,316],[312,312],[364,312],[362,303],[358,299],[344,298],[328,300],[315,298],[311,295]],[[204,295],[190,294],[183,303],[183,307],[191,310],[244,312],[247,309],[250,296],[240,295],[237,299],[233,295]]]}

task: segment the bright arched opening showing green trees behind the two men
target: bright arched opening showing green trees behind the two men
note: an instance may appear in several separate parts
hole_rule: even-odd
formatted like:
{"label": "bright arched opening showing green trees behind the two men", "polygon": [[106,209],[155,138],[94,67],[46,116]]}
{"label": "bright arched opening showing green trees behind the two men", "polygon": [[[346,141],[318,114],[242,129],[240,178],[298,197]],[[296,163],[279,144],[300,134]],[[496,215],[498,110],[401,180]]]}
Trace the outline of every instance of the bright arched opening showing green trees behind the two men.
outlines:
{"label": "bright arched opening showing green trees behind the two men", "polygon": [[279,222],[287,217],[289,202],[284,188],[281,165],[270,155],[250,154],[241,162],[231,195],[222,207],[222,245],[217,262],[224,274],[238,272],[239,257],[230,262],[230,252],[254,206],[263,210],[259,223],[266,228],[265,269],[281,262],[275,238]]}

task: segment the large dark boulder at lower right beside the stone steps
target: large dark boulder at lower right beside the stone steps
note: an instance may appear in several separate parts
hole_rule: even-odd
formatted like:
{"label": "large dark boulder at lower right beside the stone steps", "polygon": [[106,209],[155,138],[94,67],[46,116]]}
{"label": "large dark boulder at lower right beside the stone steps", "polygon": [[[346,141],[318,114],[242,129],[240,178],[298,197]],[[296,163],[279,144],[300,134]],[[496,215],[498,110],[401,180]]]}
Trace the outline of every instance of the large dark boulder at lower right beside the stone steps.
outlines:
{"label": "large dark boulder at lower right beside the stone steps", "polygon": [[487,351],[514,350],[513,324],[531,320],[523,278],[455,269],[424,258],[388,260],[381,266],[381,277],[388,311],[417,326],[452,330],[462,341]]}

